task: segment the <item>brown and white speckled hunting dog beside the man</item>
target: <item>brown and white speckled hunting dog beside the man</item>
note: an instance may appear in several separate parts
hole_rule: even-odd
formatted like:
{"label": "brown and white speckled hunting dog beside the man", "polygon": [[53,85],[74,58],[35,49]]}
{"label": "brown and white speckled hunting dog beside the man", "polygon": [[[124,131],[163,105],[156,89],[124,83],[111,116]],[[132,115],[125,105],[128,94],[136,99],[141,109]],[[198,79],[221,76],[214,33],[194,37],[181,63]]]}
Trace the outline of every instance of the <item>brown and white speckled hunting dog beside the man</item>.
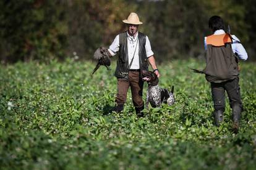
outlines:
{"label": "brown and white speckled hunting dog beside the man", "polygon": [[160,107],[161,103],[167,103],[169,106],[174,104],[174,86],[170,92],[167,89],[159,87],[158,77],[153,71],[143,71],[142,76],[143,81],[147,81],[148,83],[146,108],[148,108],[148,103],[150,103],[151,107]]}

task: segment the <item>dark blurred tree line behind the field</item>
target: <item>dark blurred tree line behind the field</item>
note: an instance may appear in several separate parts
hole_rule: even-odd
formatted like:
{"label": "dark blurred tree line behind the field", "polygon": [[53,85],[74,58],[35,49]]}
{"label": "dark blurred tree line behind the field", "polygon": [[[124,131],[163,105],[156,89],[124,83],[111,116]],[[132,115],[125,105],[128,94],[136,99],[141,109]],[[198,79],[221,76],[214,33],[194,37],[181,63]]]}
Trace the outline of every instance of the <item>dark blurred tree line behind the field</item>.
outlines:
{"label": "dark blurred tree line behind the field", "polygon": [[99,46],[109,46],[126,30],[122,20],[137,12],[139,30],[150,38],[158,61],[203,57],[203,37],[211,34],[208,18],[220,15],[231,34],[255,59],[254,0],[2,0],[0,2],[0,59],[92,59]]}

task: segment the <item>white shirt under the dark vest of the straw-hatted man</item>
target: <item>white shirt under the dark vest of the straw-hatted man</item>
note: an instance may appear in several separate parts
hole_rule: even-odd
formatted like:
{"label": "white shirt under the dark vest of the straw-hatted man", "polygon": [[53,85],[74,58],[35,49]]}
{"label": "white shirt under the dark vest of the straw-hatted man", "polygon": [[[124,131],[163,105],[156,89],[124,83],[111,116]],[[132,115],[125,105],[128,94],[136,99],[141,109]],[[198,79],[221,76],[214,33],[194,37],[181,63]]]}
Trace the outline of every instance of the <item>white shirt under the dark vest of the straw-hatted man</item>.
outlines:
{"label": "white shirt under the dark vest of the straw-hatted man", "polygon": [[[137,41],[139,41],[138,33],[136,33],[134,36],[130,36],[127,33],[127,47],[128,47],[129,64],[132,60],[132,57],[134,57],[134,60],[132,62],[132,65],[130,66],[130,69],[139,69],[140,68],[139,42],[137,42]],[[146,36],[145,50],[146,50],[147,57],[151,57],[154,54],[153,51],[151,50],[151,45],[150,45],[148,36]],[[116,38],[114,38],[114,41],[109,46],[108,51],[112,56],[116,55],[116,53],[119,51],[119,34],[116,36]]]}

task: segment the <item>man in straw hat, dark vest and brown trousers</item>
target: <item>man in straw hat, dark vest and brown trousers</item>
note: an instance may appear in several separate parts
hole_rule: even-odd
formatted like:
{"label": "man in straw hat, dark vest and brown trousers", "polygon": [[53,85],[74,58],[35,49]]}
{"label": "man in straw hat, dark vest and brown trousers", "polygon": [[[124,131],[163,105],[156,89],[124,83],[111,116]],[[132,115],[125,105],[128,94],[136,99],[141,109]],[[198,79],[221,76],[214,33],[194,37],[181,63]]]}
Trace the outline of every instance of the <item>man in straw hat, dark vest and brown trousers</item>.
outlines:
{"label": "man in straw hat, dark vest and brown trousers", "polygon": [[111,56],[119,52],[115,71],[117,78],[115,111],[119,113],[124,109],[127,91],[130,86],[136,114],[141,117],[143,116],[142,110],[144,108],[141,73],[143,70],[148,70],[148,62],[158,77],[160,73],[156,67],[148,36],[138,31],[139,25],[142,24],[138,15],[132,12],[127,20],[122,22],[127,24],[127,31],[118,34],[108,49]]}

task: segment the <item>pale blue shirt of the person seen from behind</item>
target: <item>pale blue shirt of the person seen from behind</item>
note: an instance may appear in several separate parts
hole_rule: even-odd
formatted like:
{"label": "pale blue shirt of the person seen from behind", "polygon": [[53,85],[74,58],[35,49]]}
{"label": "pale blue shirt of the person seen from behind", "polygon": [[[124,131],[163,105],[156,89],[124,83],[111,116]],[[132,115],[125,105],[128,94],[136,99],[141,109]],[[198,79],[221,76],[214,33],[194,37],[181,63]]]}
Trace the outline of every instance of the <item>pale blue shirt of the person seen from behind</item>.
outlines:
{"label": "pale blue shirt of the person seen from behind", "polygon": [[[224,34],[224,33],[225,33],[224,30],[216,30],[213,34]],[[239,59],[247,60],[248,55],[244,49],[244,46],[242,46],[239,39],[235,35],[231,35],[231,37],[233,38],[232,39],[233,43],[231,44],[233,52],[237,54]],[[207,37],[205,37],[204,45],[205,45],[205,50],[207,50]]]}

